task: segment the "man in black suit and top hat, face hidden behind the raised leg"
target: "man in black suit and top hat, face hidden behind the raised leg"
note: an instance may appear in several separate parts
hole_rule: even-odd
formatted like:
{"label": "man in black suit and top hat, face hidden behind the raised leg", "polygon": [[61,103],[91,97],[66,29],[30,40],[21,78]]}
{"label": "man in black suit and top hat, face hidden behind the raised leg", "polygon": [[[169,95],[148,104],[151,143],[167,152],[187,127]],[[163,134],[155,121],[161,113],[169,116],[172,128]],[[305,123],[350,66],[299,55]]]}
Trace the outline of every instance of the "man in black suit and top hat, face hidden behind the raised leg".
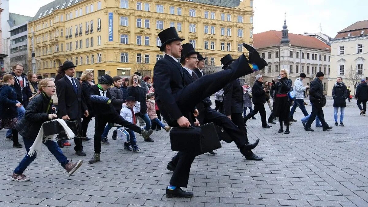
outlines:
{"label": "man in black suit and top hat, face hidden behind the raised leg", "polygon": [[[221,63],[223,64],[224,71],[229,69],[234,60],[231,55],[226,55],[221,59]],[[245,123],[243,120],[243,87],[240,85],[240,80],[237,78],[231,83],[226,84],[224,87],[224,106],[223,106],[223,113],[233,121],[233,123],[238,126],[238,128],[243,131],[247,140],[245,141],[246,144],[249,143],[248,136],[247,136],[247,129],[245,128]],[[245,155],[245,159],[252,159],[252,160],[262,160],[262,157],[254,154],[252,150],[248,150],[247,152],[242,152]]]}

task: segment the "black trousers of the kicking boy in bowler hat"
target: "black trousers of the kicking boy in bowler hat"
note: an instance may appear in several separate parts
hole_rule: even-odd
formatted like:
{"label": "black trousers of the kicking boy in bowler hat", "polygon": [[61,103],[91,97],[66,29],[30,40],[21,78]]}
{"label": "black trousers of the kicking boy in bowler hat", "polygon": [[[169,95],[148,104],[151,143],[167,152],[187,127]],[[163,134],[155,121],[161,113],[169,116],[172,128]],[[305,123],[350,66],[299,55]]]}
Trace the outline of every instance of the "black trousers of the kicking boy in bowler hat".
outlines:
{"label": "black trousers of the kicking boy in bowler hat", "polygon": [[142,134],[141,127],[128,122],[115,111],[114,113],[96,115],[95,119],[95,136],[93,136],[93,145],[96,153],[101,152],[101,135],[107,123],[120,124],[123,127],[127,127],[128,129],[137,132],[138,134]]}

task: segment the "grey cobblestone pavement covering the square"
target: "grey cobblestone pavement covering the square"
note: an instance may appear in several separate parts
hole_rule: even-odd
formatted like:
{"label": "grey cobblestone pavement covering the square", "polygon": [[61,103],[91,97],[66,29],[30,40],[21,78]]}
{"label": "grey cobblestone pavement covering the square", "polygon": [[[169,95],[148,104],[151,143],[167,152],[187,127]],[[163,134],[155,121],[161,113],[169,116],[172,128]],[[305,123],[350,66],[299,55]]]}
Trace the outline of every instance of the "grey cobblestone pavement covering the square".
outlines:
{"label": "grey cobblestone pavement covering the square", "polygon": [[[309,101],[308,101],[309,103]],[[345,127],[331,131],[306,132],[300,122],[290,127],[291,134],[277,133],[278,124],[261,128],[259,115],[249,120],[248,137],[261,141],[254,152],[263,161],[245,160],[234,143],[222,143],[217,155],[204,154],[192,165],[186,190],[190,199],[164,196],[171,172],[167,162],[169,133],[152,134],[154,143],[137,137],[139,153],[123,150],[121,140],[102,145],[101,162],[88,164],[93,141],[84,142],[87,157],[72,176],[57,163],[46,147],[25,171],[31,181],[10,180],[11,173],[25,155],[24,148],[12,148],[0,131],[0,206],[368,206],[368,116],[360,116],[355,101],[347,104]],[[267,114],[269,115],[269,110]],[[310,105],[307,106],[311,111]],[[333,126],[329,100],[325,117]],[[93,137],[94,121],[89,124]],[[109,136],[111,136],[110,131]],[[22,141],[21,141],[22,143]],[[74,145],[74,143],[72,143]],[[64,147],[74,161],[81,158],[73,147]]]}

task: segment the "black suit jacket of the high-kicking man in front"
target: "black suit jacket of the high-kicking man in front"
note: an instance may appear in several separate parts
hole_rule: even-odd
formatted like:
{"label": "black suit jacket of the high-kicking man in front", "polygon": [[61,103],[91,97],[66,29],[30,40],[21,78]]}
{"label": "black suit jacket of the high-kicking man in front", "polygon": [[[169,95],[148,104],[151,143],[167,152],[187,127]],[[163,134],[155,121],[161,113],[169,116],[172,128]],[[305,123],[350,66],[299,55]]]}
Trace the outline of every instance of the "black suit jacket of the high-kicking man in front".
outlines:
{"label": "black suit jacket of the high-kicking man in front", "polygon": [[[183,68],[172,57],[165,55],[153,68],[155,99],[162,116],[170,122],[183,116],[176,103],[178,92],[184,88]],[[159,84],[157,84],[159,83]]]}

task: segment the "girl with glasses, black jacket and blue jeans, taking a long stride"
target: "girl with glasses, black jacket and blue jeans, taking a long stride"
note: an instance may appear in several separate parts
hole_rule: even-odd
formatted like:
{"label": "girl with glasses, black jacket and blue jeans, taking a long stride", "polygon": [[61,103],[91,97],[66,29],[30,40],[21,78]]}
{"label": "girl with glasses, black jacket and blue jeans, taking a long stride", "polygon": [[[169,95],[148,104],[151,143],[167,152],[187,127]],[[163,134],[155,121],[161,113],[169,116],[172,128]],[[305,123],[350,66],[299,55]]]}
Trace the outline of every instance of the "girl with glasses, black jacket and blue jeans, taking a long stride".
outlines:
{"label": "girl with glasses, black jacket and blue jeans, taking a long stride", "polygon": [[[51,99],[51,96],[56,91],[54,81],[52,81],[51,78],[42,79],[40,80],[38,86],[39,92],[37,92],[35,96],[31,97],[31,101],[28,103],[25,115],[15,126],[23,137],[24,146],[27,151],[27,154],[18,164],[17,168],[15,168],[14,173],[11,176],[12,180],[19,182],[29,180],[29,178],[25,176],[23,172],[37,156],[36,152],[29,155],[28,152],[35,142],[42,124],[53,118],[57,118],[57,115],[54,113],[54,107]],[[61,166],[66,169],[69,175],[73,174],[82,165],[83,161],[81,159],[76,163],[69,162],[69,160],[63,154],[63,151],[61,151],[59,145],[57,145],[56,141],[47,139],[46,141],[43,140],[42,143],[46,145],[49,151],[55,156],[57,161],[60,162]]]}

